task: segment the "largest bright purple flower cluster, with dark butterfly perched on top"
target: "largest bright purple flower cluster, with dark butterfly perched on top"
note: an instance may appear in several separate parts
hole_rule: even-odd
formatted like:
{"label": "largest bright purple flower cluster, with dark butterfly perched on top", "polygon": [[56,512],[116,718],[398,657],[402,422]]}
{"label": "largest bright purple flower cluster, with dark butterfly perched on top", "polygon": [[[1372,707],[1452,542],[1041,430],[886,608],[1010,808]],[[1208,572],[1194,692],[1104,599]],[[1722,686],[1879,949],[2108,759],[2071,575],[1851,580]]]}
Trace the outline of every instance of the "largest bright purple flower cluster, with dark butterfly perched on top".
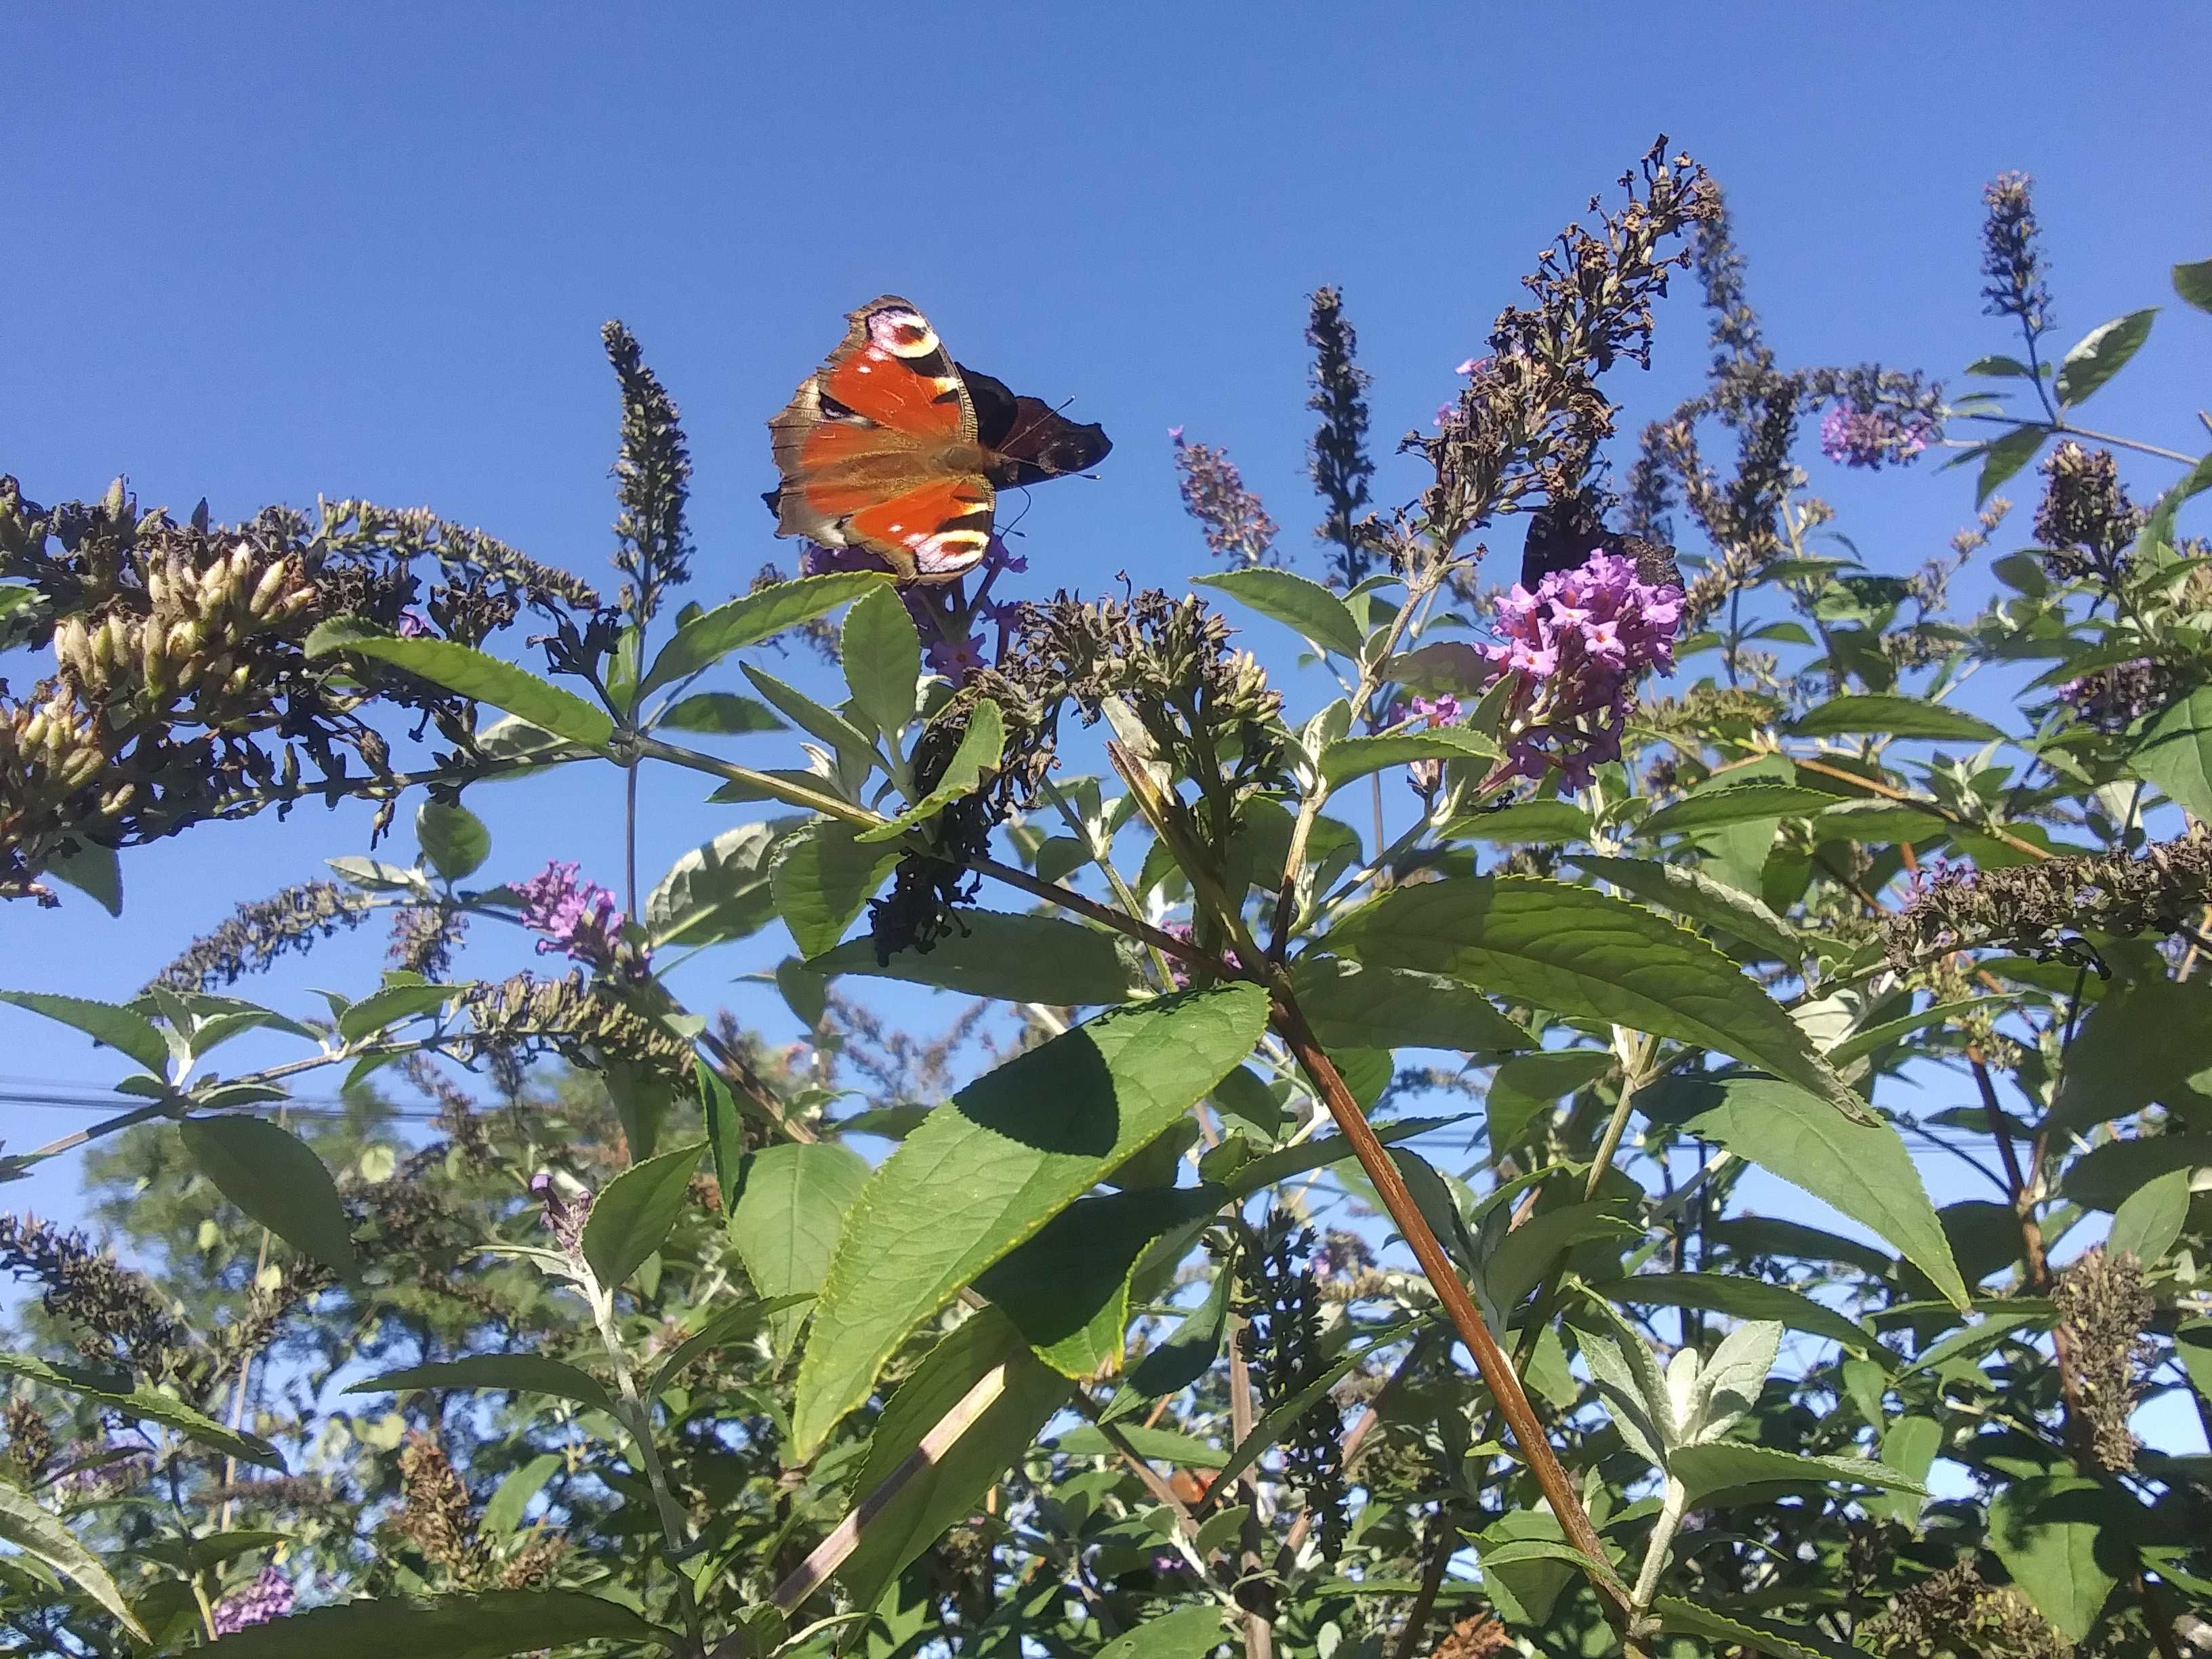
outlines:
{"label": "largest bright purple flower cluster, with dark butterfly perched on top", "polygon": [[1559,768],[1571,790],[1621,759],[1621,730],[1637,675],[1674,666],[1681,588],[1637,577],[1635,560],[1590,553],[1553,571],[1535,593],[1520,582],[1498,597],[1502,644],[1475,646],[1502,672],[1522,675],[1506,765],[1524,779]]}

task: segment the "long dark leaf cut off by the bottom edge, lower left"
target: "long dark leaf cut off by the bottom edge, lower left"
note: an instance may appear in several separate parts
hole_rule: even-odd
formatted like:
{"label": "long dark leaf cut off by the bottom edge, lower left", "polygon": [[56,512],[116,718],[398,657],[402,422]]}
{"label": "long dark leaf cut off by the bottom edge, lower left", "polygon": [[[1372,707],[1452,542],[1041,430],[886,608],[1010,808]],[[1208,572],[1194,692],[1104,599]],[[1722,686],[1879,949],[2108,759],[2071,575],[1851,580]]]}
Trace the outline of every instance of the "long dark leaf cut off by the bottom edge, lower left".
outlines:
{"label": "long dark leaf cut off by the bottom edge, lower left", "polygon": [[675,1648],[677,1632],[582,1590],[484,1590],[407,1599],[338,1601],[250,1624],[208,1646],[221,1659],[513,1659],[580,1641]]}

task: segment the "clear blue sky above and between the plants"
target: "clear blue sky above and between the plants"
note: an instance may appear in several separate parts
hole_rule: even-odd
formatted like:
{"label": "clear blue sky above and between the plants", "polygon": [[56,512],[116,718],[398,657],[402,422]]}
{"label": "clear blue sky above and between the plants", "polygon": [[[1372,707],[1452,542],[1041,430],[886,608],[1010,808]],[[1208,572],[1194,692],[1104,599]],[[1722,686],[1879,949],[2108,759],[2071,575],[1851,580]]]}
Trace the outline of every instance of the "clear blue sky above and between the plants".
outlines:
{"label": "clear blue sky above and between the plants", "polygon": [[[1095,593],[1119,571],[1172,584],[1206,566],[1170,425],[1228,445],[1303,553],[1305,294],[1345,288],[1387,447],[1451,392],[1548,237],[1661,131],[1725,186],[1792,363],[1955,374],[2008,349],[1975,292],[1980,186],[2002,168],[2037,177],[2066,341],[2170,299],[2166,268],[2212,254],[2199,4],[2024,4],[2002,27],[1887,4],[1659,18],[11,7],[0,469],[38,500],[126,471],[179,515],[199,495],[217,518],[319,491],[429,502],[613,586],[597,325],[622,316],[684,405],[695,591],[712,602],[763,560],[790,564],[759,504],[761,422],[841,312],[896,290],[956,356],[1113,434],[1099,478],[1037,491],[1022,524],[1031,593]],[[2203,449],[2208,341],[2168,307],[2099,425]],[[1703,358],[1686,285],[1655,372],[1617,372],[1624,431],[1692,389]],[[1416,487],[1385,465],[1385,500]],[[1964,473],[1825,469],[1816,487],[1885,571],[1971,518]],[[648,883],[726,827],[699,796],[648,779]],[[487,876],[557,854],[613,880],[617,799],[611,779],[484,790]],[[0,909],[0,982],[126,995],[239,898],[361,852],[365,827],[303,807],[128,852],[122,920]],[[394,847],[409,843],[403,818]],[[378,949],[341,940],[270,991],[358,987]],[[717,953],[684,989],[712,1002],[781,949]],[[785,1029],[754,991],[728,995]],[[111,1077],[7,1011],[0,1073]],[[18,1150],[84,1121],[7,1113]],[[66,1212],[73,1181],[64,1166],[29,1197]]]}

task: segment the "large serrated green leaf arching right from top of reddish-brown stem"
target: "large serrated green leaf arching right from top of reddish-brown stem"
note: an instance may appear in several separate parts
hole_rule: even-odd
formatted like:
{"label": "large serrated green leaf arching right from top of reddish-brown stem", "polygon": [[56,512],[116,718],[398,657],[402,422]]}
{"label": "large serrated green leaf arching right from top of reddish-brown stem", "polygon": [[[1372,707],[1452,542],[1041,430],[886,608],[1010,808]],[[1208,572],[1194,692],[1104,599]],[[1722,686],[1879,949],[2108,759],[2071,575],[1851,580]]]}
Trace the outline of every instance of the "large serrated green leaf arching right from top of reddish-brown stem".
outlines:
{"label": "large serrated green leaf arching right from top of reddish-brown stem", "polygon": [[1874,1121],[1734,962],[1624,898],[1533,876],[1458,876],[1385,894],[1338,922],[1332,942],[1376,967],[1451,973],[1515,1002],[1717,1048]]}

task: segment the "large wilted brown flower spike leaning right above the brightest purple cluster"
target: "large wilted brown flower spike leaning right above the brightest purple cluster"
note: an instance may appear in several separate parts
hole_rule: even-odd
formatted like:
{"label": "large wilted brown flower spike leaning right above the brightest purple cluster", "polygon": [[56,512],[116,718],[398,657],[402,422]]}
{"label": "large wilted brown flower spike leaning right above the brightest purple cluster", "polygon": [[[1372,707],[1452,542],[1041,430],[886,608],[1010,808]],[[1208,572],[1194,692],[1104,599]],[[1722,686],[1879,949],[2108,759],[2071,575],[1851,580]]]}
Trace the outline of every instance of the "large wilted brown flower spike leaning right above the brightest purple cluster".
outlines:
{"label": "large wilted brown flower spike leaning right above the brightest purple cluster", "polygon": [[[1436,469],[1422,515],[1440,544],[1515,509],[1533,493],[1564,502],[1584,491],[1619,405],[1597,389],[1615,358],[1650,363],[1652,301],[1686,254],[1663,252],[1719,210],[1719,192],[1690,157],[1666,159],[1661,137],[1619,179],[1628,201],[1593,228],[1568,226],[1522,279],[1528,307],[1506,307],[1489,358],[1471,365],[1436,436],[1411,434]],[[1666,538],[1657,538],[1666,540]]]}

